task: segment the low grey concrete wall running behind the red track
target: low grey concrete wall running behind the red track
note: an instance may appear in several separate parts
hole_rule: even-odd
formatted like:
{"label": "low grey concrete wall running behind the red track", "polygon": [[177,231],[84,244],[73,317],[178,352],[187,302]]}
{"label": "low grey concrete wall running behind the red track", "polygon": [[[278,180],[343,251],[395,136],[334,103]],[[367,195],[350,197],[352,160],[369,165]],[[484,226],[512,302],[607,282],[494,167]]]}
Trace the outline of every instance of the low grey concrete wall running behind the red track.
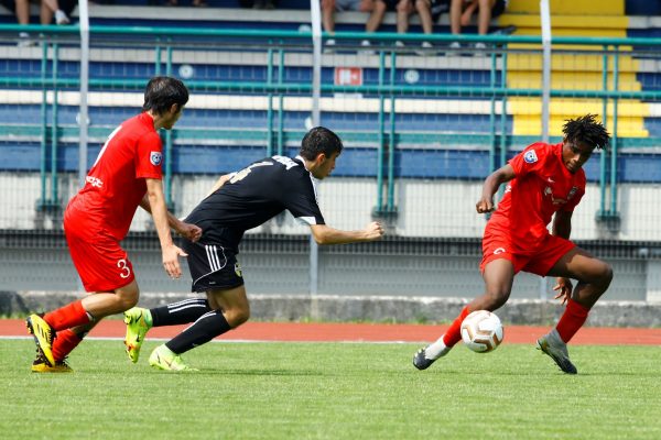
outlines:
{"label": "low grey concrete wall running behind the red track", "polygon": [[[65,305],[84,294],[73,292],[0,292],[1,315],[25,315]],[[142,294],[141,307],[156,307],[195,294]],[[468,298],[430,298],[403,296],[299,296],[250,295],[253,320],[424,322],[452,321]],[[549,326],[560,318],[564,307],[555,301],[511,299],[496,314],[506,324]],[[659,327],[661,302],[599,301],[587,326]]]}

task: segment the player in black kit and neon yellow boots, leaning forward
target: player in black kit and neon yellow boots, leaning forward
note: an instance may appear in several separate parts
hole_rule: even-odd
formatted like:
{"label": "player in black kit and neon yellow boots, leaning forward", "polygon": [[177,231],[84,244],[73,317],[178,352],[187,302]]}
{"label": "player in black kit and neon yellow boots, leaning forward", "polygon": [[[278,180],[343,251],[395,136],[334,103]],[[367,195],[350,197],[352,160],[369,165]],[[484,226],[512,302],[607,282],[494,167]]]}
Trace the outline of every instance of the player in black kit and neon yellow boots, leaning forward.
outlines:
{"label": "player in black kit and neon yellow boots, leaning forward", "polygon": [[206,293],[206,298],[126,311],[124,344],[132,362],[138,362],[144,336],[152,327],[194,322],[149,358],[156,369],[192,370],[182,361],[182,353],[246,322],[250,306],[236,257],[239,242],[243,232],[285,209],[310,226],[318,244],[375,241],[383,235],[376,221],[361,231],[340,231],[325,224],[316,185],[335,168],[342,148],[334,132],[317,127],[305,134],[296,157],[267,157],[218,179],[212,194],[185,219],[203,230],[198,242],[185,241],[183,249],[188,254],[193,292]]}

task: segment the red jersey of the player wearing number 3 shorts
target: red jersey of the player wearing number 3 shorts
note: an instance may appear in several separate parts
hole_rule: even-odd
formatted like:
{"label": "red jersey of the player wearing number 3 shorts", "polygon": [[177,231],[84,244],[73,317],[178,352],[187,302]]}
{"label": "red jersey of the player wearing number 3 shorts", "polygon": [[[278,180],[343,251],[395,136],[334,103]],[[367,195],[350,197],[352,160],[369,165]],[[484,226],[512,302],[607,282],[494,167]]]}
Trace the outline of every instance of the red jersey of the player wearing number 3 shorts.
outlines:
{"label": "red jersey of the player wearing number 3 shorts", "polygon": [[78,218],[82,222],[89,226],[91,221],[122,240],[147,193],[144,179],[162,176],[162,150],[151,116],[141,113],[124,121],[108,136],[67,210],[84,213]]}

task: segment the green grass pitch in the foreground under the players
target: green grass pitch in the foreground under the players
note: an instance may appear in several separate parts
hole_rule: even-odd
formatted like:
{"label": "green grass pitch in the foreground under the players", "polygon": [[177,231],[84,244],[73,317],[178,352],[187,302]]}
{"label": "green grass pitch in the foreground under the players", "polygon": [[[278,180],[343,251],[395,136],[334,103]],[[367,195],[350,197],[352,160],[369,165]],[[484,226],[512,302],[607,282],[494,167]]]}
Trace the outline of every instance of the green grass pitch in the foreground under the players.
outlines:
{"label": "green grass pitch in the foreground under the players", "polygon": [[213,343],[199,372],[137,365],[86,341],[74,374],[32,374],[31,340],[0,340],[2,439],[660,439],[661,349],[574,346],[567,376],[532,346]]}

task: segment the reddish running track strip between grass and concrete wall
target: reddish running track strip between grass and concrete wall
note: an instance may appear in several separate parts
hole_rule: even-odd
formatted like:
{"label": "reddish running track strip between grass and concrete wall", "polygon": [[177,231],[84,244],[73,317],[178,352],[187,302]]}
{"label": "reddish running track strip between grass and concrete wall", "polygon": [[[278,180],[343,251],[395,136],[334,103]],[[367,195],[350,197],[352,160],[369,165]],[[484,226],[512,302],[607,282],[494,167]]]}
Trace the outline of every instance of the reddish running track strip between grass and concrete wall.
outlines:
{"label": "reddish running track strip between grass and concrete wall", "polygon": [[[170,339],[186,326],[156,327],[149,338]],[[219,340],[228,341],[288,341],[288,342],[430,342],[438,338],[447,326],[384,324],[384,323],[302,323],[247,322]],[[120,320],[101,321],[91,338],[122,338],[126,331]],[[549,331],[549,327],[506,326],[505,343],[532,344]],[[20,319],[0,319],[1,337],[28,337]],[[661,329],[596,328],[581,329],[573,344],[597,345],[661,345]]]}

